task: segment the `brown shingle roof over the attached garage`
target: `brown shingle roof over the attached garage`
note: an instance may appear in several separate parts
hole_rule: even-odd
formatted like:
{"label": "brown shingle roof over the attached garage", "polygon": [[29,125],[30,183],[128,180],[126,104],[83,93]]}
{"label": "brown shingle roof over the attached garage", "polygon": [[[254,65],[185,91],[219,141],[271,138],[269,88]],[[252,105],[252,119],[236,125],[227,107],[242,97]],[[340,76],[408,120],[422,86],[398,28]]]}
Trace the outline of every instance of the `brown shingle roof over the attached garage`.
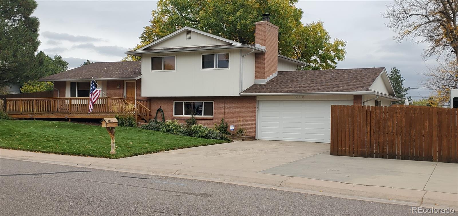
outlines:
{"label": "brown shingle roof over the attached garage", "polygon": [[369,91],[384,68],[278,71],[265,84],[254,84],[242,93],[315,93]]}

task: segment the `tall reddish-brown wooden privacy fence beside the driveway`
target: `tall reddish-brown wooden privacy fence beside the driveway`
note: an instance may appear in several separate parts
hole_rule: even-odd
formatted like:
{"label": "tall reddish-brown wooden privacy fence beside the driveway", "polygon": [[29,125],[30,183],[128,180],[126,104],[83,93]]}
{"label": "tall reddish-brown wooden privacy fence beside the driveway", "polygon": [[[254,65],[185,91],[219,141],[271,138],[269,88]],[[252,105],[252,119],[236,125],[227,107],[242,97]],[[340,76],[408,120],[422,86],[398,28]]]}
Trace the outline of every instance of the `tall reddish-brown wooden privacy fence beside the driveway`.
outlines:
{"label": "tall reddish-brown wooden privacy fence beside the driveway", "polygon": [[457,109],[331,106],[331,155],[457,161]]}

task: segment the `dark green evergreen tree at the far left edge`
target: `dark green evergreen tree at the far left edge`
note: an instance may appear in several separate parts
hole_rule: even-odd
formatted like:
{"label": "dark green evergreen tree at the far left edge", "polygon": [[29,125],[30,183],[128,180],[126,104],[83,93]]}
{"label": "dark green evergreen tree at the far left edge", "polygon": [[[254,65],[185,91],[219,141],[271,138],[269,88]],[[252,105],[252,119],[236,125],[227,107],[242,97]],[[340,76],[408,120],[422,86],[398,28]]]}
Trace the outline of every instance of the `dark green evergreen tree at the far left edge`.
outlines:
{"label": "dark green evergreen tree at the far left edge", "polygon": [[37,52],[37,17],[30,16],[37,3],[34,0],[0,1],[0,84],[17,84],[37,79],[44,53]]}

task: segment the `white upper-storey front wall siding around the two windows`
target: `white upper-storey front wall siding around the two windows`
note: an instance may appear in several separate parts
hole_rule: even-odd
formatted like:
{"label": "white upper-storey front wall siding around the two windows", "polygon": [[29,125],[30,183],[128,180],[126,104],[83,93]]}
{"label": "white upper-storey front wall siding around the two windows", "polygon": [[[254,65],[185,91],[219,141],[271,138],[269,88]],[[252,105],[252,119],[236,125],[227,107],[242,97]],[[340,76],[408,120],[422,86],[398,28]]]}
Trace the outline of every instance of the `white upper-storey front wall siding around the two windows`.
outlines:
{"label": "white upper-storey front wall siding around the two windows", "polygon": [[[201,69],[202,53],[182,52],[142,56],[142,96],[238,96],[240,87],[240,51],[229,53],[229,69]],[[176,55],[175,71],[151,72],[151,57]]]}

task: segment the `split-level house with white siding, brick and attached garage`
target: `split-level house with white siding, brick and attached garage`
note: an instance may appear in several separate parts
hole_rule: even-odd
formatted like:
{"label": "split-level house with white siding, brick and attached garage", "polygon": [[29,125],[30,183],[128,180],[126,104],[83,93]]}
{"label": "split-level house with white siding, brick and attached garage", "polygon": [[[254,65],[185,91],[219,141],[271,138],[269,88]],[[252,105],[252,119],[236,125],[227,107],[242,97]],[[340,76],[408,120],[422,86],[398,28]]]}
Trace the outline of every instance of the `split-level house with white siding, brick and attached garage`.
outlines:
{"label": "split-level house with white siding, brick and attached garage", "polygon": [[402,100],[385,68],[296,70],[307,63],[278,54],[278,27],[268,17],[256,22],[255,44],[183,27],[125,54],[141,61],[92,63],[40,79],[54,82],[54,96],[70,103],[53,112],[91,117],[71,110],[87,103],[76,99],[88,96],[93,77],[107,98],[96,113],[109,114],[109,101],[125,99],[136,103],[144,121],[162,108],[166,120],[195,115],[213,126],[224,118],[257,139],[329,142],[331,105]]}

